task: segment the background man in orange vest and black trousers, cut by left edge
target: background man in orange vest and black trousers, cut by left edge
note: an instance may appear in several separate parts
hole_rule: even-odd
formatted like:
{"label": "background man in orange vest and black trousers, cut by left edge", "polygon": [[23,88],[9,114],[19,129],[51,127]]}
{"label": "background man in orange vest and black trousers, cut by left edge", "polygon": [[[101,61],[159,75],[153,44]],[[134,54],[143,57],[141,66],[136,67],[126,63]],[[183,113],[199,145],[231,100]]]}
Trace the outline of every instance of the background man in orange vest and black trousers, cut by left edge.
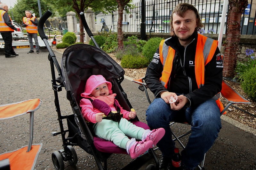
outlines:
{"label": "background man in orange vest and black trousers, cut by left edge", "polygon": [[6,58],[16,57],[19,54],[15,53],[12,48],[12,32],[17,31],[17,28],[12,25],[12,20],[8,12],[8,6],[0,3],[0,33],[4,39],[4,54]]}

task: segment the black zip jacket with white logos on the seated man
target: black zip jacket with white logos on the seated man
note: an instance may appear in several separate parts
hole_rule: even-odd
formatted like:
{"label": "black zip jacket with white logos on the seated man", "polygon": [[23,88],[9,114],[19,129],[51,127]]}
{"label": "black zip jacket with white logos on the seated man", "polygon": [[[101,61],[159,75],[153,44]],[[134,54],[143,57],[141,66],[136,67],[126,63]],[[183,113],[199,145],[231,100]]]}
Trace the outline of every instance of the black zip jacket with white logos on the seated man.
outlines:
{"label": "black zip jacket with white logos on the seated man", "polygon": [[[160,97],[161,91],[170,91],[186,96],[189,106],[198,105],[211,99],[221,90],[223,62],[217,61],[220,56],[219,48],[216,49],[212,60],[205,66],[204,86],[198,89],[195,76],[196,43],[198,34],[195,32],[193,40],[184,48],[180,45],[177,37],[172,37],[165,43],[175,50],[175,57],[172,63],[172,72],[167,89],[159,81],[162,76],[163,64],[159,59],[159,48],[156,50],[154,58],[149,64],[145,76],[148,88],[155,97]],[[188,78],[189,77],[189,78]],[[191,80],[191,81],[190,81]]]}

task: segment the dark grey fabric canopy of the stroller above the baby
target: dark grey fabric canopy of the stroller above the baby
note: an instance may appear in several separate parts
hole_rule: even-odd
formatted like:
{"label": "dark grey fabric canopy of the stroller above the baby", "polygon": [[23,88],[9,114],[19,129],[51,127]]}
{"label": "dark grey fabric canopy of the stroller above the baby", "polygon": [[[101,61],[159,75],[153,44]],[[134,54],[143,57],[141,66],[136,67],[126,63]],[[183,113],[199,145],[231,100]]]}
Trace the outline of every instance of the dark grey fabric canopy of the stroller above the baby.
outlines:
{"label": "dark grey fabric canopy of the stroller above the baby", "polygon": [[61,66],[68,100],[71,100],[68,96],[68,91],[71,91],[78,101],[91,75],[101,74],[110,82],[113,78],[120,83],[124,79],[124,69],[115,60],[101,49],[87,44],[69,46],[62,55]]}

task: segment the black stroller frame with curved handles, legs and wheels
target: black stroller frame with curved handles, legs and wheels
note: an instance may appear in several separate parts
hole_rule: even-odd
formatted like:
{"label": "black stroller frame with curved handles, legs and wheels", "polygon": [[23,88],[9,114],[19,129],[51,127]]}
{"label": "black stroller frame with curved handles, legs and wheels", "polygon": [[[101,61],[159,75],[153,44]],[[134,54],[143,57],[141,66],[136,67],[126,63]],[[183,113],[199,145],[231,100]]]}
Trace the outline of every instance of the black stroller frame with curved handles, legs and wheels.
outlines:
{"label": "black stroller frame with curved handles, legs and wheels", "polygon": [[[52,136],[56,136],[56,135],[60,134],[62,137],[62,142],[63,142],[63,147],[64,147],[64,149],[61,149],[59,151],[54,151],[52,153],[53,164],[56,169],[64,169],[63,161],[68,161],[71,166],[76,166],[78,158],[77,158],[76,151],[73,148],[73,146],[78,145],[82,149],[84,149],[87,153],[94,156],[97,166],[100,170],[107,169],[107,159],[112,153],[103,153],[96,149],[96,147],[93,143],[93,137],[92,137],[90,128],[86,124],[86,122],[81,114],[79,105],[77,104],[77,100],[76,100],[77,97],[74,97],[72,92],[67,90],[67,88],[69,88],[69,87],[67,87],[67,86],[69,86],[69,84],[63,83],[63,82],[66,82],[67,80],[65,80],[63,78],[61,67],[60,67],[58,61],[56,60],[56,56],[53,53],[50,45],[47,42],[47,37],[45,36],[43,27],[44,27],[45,21],[51,15],[52,15],[52,12],[48,10],[44,13],[42,18],[40,18],[39,23],[38,23],[38,32],[39,32],[41,39],[44,41],[47,50],[49,51],[48,60],[50,61],[50,65],[51,65],[52,89],[54,91],[54,96],[55,96],[54,102],[55,102],[56,111],[58,113],[58,121],[59,121],[59,125],[60,125],[60,132],[53,132]],[[80,17],[82,18],[82,22],[83,22],[83,25],[85,27],[87,34],[91,37],[91,39],[94,42],[94,44],[96,45],[96,47],[99,48],[97,42],[93,38],[92,32],[90,31],[90,29],[86,23],[83,12],[80,13]],[[57,77],[57,78],[55,76],[55,68],[57,69],[58,75],[59,75],[59,77]],[[122,89],[122,87],[120,85],[123,80],[124,80],[124,75],[120,75],[119,78],[115,79],[116,85],[118,86],[118,88],[121,92],[120,94],[122,94],[122,97],[125,99],[127,105],[131,109],[132,106],[127,99],[127,95],[125,94],[124,90]],[[70,105],[71,105],[72,111],[73,111],[72,115],[68,115],[68,116],[61,115],[58,92],[62,91],[62,87],[64,87],[67,90],[67,98],[70,101]],[[124,108],[124,109],[126,109],[126,108]],[[68,130],[64,130],[63,119],[67,120]],[[136,119],[138,120],[137,117],[136,117]],[[77,126],[79,126],[79,127],[77,127]],[[78,129],[78,132],[74,133],[71,131],[71,129]],[[68,132],[68,137],[66,138],[65,135],[67,132]],[[88,143],[86,143],[86,141],[83,141],[83,140],[82,141],[76,140],[77,138],[81,138],[82,134],[84,134],[84,136],[86,137],[86,141]],[[140,156],[139,158],[134,159],[131,163],[129,163],[123,169],[139,169],[145,162],[147,162],[151,158],[153,158],[155,160],[156,166],[153,164],[150,164],[147,167],[147,169],[153,169],[155,167],[159,167],[159,162],[156,157],[156,154],[155,154],[154,150],[151,148],[148,150],[148,153],[145,153],[144,155]],[[104,166],[102,166],[101,162],[104,162]]]}

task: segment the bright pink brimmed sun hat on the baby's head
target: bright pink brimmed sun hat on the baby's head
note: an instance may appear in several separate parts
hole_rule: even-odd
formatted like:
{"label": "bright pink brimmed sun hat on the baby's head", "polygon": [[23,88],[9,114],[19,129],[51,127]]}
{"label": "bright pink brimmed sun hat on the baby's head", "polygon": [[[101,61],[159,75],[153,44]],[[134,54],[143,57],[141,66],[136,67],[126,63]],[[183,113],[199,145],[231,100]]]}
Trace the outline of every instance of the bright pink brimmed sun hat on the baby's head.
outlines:
{"label": "bright pink brimmed sun hat on the baby's head", "polygon": [[81,94],[82,97],[88,96],[92,94],[92,91],[96,89],[100,84],[107,83],[109,94],[112,94],[112,84],[109,81],[106,81],[106,79],[102,75],[91,75],[85,84],[84,93]]}

